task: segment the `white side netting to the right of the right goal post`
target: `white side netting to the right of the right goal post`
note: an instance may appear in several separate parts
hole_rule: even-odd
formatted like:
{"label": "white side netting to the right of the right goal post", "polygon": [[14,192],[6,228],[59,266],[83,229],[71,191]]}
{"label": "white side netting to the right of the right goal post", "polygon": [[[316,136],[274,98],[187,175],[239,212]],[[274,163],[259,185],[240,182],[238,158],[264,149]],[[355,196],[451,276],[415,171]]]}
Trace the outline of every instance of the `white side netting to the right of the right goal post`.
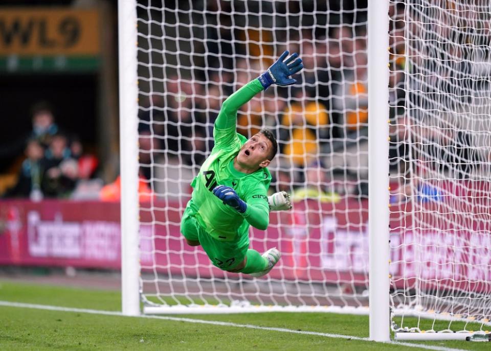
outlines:
{"label": "white side netting to the right of the right goal post", "polygon": [[393,327],[486,331],[491,4],[392,1],[390,16]]}

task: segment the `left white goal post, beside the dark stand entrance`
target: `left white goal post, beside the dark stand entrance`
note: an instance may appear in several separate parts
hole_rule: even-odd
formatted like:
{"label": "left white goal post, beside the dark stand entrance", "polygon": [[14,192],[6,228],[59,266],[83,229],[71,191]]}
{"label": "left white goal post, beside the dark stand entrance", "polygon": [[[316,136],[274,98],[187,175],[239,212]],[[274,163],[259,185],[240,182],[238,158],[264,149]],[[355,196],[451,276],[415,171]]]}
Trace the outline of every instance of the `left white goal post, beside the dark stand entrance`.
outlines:
{"label": "left white goal post, beside the dark stand entrance", "polygon": [[127,316],[140,314],[138,203],[137,4],[118,1],[121,165],[121,300]]}

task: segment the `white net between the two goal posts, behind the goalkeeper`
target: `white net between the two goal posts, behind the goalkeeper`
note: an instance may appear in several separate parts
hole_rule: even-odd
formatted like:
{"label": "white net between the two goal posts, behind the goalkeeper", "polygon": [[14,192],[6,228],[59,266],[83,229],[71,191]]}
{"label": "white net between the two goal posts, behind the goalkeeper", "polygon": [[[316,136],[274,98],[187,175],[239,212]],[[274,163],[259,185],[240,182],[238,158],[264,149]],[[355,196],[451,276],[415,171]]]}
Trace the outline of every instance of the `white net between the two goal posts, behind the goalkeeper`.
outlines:
{"label": "white net between the two goal posts, behind the goalkeeper", "polygon": [[[366,3],[138,3],[142,295],[147,304],[367,306]],[[270,191],[291,212],[251,230],[282,259],[262,278],[221,271],[187,246],[180,220],[213,147],[221,102],[283,52],[305,68],[243,106],[237,131],[272,129]]]}

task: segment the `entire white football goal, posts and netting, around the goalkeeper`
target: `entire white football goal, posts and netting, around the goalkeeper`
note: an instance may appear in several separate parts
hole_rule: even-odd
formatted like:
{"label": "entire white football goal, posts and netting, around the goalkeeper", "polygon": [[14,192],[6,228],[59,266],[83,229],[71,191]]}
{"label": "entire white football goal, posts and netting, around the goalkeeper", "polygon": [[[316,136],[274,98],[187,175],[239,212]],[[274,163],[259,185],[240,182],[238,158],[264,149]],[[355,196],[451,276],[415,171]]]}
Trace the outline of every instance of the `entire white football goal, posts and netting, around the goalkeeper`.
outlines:
{"label": "entire white football goal, posts and netting, around the goalkeeper", "polygon": [[[377,341],[488,333],[491,5],[475,3],[119,0],[123,313],[369,314]],[[271,191],[294,200],[251,229],[253,248],[282,252],[253,278],[186,245],[180,220],[221,103],[285,49],[298,83],[238,113],[244,136],[276,133]]]}

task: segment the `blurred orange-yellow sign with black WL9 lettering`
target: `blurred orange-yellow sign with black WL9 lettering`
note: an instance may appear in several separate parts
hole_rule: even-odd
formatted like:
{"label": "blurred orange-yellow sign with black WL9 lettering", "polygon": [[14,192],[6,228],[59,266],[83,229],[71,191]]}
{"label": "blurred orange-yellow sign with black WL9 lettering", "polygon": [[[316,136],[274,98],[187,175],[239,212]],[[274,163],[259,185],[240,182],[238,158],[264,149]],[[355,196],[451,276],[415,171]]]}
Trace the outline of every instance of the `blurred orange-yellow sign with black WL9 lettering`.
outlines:
{"label": "blurred orange-yellow sign with black WL9 lettering", "polygon": [[0,56],[99,52],[97,10],[0,7]]}

